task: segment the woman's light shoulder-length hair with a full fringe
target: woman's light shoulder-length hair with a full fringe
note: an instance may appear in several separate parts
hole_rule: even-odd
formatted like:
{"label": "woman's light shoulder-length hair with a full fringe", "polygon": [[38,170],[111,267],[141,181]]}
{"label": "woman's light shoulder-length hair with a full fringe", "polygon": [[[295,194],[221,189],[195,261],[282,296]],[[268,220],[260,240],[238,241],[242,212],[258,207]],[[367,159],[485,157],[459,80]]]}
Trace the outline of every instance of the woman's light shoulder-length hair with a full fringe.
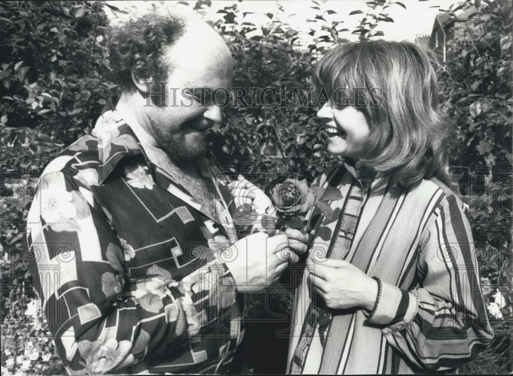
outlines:
{"label": "woman's light shoulder-length hair with a full fringe", "polygon": [[370,128],[359,162],[407,188],[432,177],[449,183],[451,127],[438,111],[433,64],[436,57],[416,44],[373,40],[328,51],[314,71],[315,86],[332,105],[340,102],[333,97],[340,88],[359,92],[351,105],[364,112]]}

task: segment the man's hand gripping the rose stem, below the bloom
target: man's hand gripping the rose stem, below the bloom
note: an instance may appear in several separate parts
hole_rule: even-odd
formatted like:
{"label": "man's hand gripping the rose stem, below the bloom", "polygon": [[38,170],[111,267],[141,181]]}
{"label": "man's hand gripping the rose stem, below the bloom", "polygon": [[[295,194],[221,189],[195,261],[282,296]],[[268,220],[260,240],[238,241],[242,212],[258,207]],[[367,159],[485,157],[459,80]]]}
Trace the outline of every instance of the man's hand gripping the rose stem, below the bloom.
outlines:
{"label": "man's hand gripping the rose stem, below the bloom", "polygon": [[255,233],[216,254],[230,269],[239,291],[261,290],[276,282],[294,256],[285,233]]}

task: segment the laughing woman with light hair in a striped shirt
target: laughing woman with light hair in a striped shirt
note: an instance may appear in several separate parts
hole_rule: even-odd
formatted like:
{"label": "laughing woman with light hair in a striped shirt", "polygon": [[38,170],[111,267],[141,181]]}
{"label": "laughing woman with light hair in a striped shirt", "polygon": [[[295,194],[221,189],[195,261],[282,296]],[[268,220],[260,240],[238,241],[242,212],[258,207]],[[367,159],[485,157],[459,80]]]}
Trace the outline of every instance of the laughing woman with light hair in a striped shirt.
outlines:
{"label": "laughing woman with light hair in a striped shirt", "polygon": [[334,220],[309,215],[287,372],[448,372],[492,339],[430,61],[412,43],[368,41],[315,69],[327,150],[345,160],[317,184],[342,198]]}

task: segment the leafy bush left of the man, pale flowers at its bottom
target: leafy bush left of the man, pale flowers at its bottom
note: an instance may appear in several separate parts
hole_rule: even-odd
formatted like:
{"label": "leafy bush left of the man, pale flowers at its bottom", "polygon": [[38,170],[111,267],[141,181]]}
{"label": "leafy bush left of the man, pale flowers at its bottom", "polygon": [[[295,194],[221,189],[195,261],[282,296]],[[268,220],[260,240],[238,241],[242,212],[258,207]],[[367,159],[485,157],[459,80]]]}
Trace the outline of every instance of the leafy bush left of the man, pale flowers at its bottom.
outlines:
{"label": "leafy bush left of the man, pale flowers at its bottom", "polygon": [[65,373],[45,322],[34,327],[41,314],[27,312],[35,303],[24,222],[38,175],[92,128],[115,89],[106,80],[108,21],[100,2],[77,1],[3,2],[0,17],[2,366]]}

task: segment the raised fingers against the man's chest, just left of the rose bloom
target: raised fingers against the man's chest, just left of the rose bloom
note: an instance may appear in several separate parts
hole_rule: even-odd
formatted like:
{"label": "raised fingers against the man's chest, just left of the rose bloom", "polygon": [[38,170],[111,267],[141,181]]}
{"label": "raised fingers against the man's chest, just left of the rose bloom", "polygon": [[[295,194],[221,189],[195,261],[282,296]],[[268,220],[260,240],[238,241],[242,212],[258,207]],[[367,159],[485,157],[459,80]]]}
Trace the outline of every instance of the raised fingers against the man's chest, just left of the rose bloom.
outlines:
{"label": "raised fingers against the man's chest, just left of the rose bloom", "polygon": [[236,181],[228,183],[236,206],[250,204],[259,214],[267,214],[276,217],[276,210],[272,201],[258,186],[244,179],[242,175]]}

